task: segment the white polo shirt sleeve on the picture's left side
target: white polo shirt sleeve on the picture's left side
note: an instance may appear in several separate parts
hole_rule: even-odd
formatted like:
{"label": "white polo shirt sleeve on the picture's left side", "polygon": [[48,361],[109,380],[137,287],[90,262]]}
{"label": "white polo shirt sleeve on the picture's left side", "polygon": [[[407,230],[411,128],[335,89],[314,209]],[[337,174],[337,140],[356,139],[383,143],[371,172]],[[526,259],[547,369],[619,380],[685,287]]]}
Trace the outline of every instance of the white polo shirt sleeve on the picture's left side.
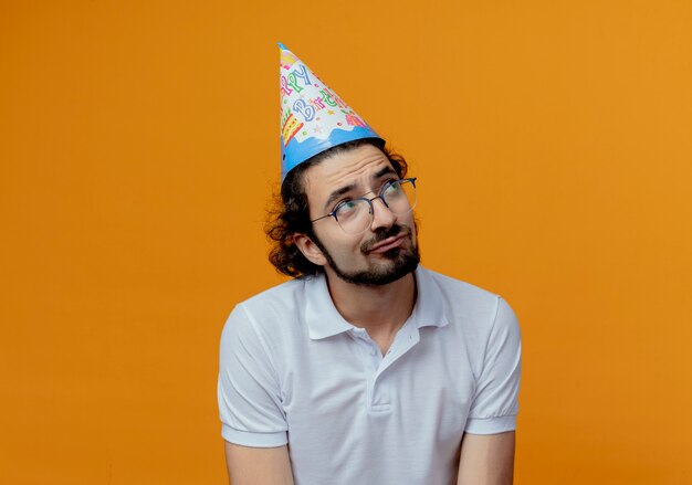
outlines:
{"label": "white polo shirt sleeve on the picture's left side", "polygon": [[218,400],[221,435],[242,446],[287,443],[281,388],[256,323],[237,306],[221,334]]}

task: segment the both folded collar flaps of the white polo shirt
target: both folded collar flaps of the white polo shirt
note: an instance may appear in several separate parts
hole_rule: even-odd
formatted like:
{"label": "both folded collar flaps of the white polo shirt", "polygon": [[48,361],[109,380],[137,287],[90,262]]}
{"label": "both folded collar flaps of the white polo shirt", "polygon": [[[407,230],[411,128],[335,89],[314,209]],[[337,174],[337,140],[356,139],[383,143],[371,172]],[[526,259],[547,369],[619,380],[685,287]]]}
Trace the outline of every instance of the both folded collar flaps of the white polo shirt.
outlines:
{"label": "both folded collar flaps of the white polo shirt", "polygon": [[[418,265],[416,270],[416,283],[418,297],[411,314],[412,324],[417,328],[448,325],[444,301],[430,273],[421,265]],[[305,281],[305,321],[312,340],[332,337],[356,328],[346,321],[334,306],[324,273]]]}

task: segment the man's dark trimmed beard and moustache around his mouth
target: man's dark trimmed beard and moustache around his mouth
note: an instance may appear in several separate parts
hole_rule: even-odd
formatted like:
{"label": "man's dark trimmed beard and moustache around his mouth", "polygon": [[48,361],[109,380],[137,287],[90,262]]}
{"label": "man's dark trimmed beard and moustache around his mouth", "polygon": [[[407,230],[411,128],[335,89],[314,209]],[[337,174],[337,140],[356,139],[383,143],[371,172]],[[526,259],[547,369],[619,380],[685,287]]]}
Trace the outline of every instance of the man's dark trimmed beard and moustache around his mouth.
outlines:
{"label": "man's dark trimmed beard and moustache around his mouth", "polygon": [[[373,239],[364,242],[360,245],[360,252],[365,254],[368,252],[369,247],[373,247],[378,242],[384,241],[387,238],[399,235],[401,233],[408,233],[410,236],[411,230],[407,226],[398,224],[395,224],[389,229],[380,228],[375,232]],[[381,253],[380,256],[386,260],[385,264],[371,265],[367,270],[348,271],[339,267],[336,264],[329,251],[327,251],[325,245],[314,233],[311,234],[311,239],[317,245],[317,247],[319,247],[334,273],[345,282],[353,283],[355,285],[388,285],[389,283],[394,283],[397,280],[402,278],[407,274],[415,272],[418,267],[418,264],[420,263],[418,243],[417,241],[413,241],[411,239],[411,250],[402,249],[401,246],[399,246],[392,247],[391,250]]]}

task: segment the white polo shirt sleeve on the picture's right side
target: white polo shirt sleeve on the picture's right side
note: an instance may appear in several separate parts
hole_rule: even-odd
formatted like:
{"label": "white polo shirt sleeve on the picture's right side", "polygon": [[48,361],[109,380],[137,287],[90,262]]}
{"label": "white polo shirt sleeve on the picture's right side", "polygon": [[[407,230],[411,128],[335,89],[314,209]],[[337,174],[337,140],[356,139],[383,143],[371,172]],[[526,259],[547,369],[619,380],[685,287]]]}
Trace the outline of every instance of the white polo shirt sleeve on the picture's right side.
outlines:
{"label": "white polo shirt sleeve on the picture's right side", "polygon": [[487,339],[483,366],[465,431],[494,434],[516,429],[522,373],[522,337],[507,303],[497,297],[495,318]]}

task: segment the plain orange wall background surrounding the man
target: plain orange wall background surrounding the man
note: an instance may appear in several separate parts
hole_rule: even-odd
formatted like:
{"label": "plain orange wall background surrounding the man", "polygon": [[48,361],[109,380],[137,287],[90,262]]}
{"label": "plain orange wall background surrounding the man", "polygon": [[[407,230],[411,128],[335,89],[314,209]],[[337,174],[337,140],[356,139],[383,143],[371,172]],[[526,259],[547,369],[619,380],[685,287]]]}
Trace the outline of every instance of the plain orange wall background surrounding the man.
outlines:
{"label": "plain orange wall background surrounding the man", "polygon": [[517,484],[692,483],[692,3],[3,1],[0,482],[221,484],[284,42],[523,329]]}

